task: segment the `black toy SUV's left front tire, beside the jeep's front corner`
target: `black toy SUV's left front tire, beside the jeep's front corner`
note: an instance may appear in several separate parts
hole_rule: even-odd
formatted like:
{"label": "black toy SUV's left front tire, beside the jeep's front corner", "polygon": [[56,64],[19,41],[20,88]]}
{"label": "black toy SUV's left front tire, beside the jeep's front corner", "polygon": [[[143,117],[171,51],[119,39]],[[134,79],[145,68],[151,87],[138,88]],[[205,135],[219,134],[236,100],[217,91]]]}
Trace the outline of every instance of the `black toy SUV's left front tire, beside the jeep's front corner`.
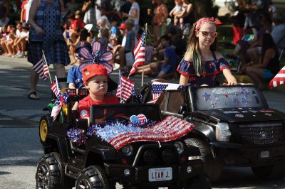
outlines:
{"label": "black toy SUV's left front tire, beside the jeep's front corner", "polygon": [[211,182],[219,180],[222,174],[222,166],[214,160],[207,143],[197,138],[186,139],[185,143],[187,146],[196,146],[199,148],[201,158],[204,161],[204,171],[209,175],[209,180],[211,180]]}

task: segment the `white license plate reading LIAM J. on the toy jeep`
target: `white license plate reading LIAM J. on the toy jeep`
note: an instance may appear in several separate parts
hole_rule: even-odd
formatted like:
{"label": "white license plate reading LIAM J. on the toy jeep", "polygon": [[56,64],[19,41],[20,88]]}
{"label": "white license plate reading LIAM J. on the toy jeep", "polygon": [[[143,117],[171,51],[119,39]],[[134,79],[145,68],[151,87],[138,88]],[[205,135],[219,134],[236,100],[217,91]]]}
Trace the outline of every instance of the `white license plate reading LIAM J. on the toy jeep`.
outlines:
{"label": "white license plate reading LIAM J. on the toy jeep", "polygon": [[172,180],[172,168],[150,168],[148,180],[150,182]]}

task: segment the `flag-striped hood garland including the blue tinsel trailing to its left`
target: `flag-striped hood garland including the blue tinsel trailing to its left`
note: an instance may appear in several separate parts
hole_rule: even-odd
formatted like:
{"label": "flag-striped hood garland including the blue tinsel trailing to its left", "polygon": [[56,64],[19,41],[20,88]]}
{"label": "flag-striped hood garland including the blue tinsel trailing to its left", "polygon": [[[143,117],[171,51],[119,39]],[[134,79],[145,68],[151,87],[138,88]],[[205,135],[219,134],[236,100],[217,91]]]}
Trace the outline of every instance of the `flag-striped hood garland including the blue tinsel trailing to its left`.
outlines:
{"label": "flag-striped hood garland including the blue tinsel trailing to its left", "polygon": [[[147,120],[142,126],[126,124],[125,121],[107,122],[105,125],[93,125],[88,128],[85,135],[83,132],[71,129],[68,137],[73,142],[81,143],[87,136],[97,135],[107,141],[117,150],[125,145],[138,141],[172,141],[179,139],[192,131],[194,125],[183,119],[169,116],[163,121]],[[83,139],[84,138],[84,139]]]}

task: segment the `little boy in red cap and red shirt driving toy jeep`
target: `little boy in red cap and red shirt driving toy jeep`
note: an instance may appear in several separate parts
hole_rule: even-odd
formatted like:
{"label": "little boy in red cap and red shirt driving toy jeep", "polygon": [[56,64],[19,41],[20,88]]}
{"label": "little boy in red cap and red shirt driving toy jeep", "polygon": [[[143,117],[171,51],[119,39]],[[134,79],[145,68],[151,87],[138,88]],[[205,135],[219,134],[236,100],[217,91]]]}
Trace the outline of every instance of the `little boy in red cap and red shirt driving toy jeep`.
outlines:
{"label": "little boy in red cap and red shirt driving toy jeep", "polygon": [[83,68],[82,77],[89,95],[78,103],[78,111],[81,119],[88,119],[88,124],[90,124],[91,105],[120,104],[120,102],[117,97],[106,94],[109,75],[103,65],[86,65]]}

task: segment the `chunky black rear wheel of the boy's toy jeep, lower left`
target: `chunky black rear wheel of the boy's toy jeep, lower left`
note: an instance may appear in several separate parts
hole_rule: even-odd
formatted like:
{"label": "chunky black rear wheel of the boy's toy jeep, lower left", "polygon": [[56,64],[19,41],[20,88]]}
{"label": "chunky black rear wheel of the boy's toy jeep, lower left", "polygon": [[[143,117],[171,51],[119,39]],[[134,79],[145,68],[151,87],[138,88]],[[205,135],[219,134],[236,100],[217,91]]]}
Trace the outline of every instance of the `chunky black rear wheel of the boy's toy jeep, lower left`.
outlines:
{"label": "chunky black rear wheel of the boy's toy jeep, lower left", "polygon": [[36,188],[71,189],[74,182],[67,180],[63,167],[58,153],[43,156],[36,168]]}

